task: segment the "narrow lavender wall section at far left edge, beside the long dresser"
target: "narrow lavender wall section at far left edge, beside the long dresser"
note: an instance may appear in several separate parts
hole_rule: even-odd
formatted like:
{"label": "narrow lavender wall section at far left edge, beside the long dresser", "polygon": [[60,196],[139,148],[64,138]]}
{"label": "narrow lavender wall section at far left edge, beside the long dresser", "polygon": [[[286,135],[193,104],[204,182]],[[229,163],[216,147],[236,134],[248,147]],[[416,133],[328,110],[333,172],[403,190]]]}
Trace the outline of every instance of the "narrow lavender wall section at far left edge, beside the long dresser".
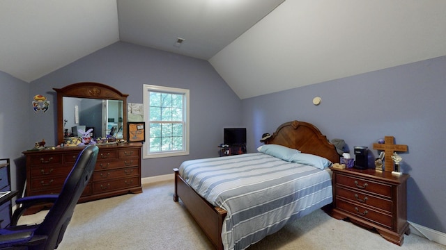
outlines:
{"label": "narrow lavender wall section at far left edge, beside the long dresser", "polygon": [[[10,158],[11,188],[17,190],[22,189],[26,176],[22,151],[26,149],[30,133],[33,133],[33,124],[24,112],[32,110],[32,99],[28,98],[29,83],[1,71],[0,86],[0,158]],[[31,113],[30,117],[38,115]]]}

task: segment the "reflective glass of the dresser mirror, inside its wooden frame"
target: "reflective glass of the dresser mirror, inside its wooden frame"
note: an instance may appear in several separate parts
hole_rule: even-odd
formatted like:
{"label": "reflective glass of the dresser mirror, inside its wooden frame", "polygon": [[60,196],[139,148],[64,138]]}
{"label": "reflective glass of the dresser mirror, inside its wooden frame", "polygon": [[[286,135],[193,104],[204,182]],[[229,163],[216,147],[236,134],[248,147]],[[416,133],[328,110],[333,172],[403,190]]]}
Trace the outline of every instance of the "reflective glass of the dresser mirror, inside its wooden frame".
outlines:
{"label": "reflective glass of the dresser mirror, inside its wooden frame", "polygon": [[63,97],[63,122],[64,137],[93,128],[92,138],[123,139],[123,101]]}

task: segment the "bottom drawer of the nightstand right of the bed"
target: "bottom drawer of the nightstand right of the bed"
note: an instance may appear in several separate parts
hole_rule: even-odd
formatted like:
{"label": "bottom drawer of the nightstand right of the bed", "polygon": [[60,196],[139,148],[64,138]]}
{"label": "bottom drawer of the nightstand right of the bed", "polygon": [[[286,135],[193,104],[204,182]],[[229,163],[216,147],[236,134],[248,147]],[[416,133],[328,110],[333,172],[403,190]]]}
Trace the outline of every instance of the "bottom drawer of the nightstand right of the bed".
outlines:
{"label": "bottom drawer of the nightstand right of the bed", "polygon": [[345,212],[354,215],[354,217],[367,219],[369,222],[392,229],[392,215],[379,213],[371,208],[350,203],[338,198],[336,199],[336,203],[337,209],[344,210]]}

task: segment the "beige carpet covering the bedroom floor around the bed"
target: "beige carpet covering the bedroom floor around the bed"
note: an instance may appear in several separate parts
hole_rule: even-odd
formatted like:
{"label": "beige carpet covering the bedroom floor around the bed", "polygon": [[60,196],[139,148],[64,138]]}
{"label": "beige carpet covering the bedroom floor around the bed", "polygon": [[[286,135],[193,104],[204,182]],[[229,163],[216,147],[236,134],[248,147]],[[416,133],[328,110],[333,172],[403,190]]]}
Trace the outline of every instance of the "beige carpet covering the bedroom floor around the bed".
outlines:
{"label": "beige carpet covering the bedroom floor around the bed", "polygon": [[[142,194],[78,204],[58,249],[212,249],[183,204],[173,201],[174,181],[143,188]],[[44,216],[40,212],[20,222],[38,223]],[[446,246],[410,234],[398,247],[376,233],[316,210],[248,249],[431,250]]]}

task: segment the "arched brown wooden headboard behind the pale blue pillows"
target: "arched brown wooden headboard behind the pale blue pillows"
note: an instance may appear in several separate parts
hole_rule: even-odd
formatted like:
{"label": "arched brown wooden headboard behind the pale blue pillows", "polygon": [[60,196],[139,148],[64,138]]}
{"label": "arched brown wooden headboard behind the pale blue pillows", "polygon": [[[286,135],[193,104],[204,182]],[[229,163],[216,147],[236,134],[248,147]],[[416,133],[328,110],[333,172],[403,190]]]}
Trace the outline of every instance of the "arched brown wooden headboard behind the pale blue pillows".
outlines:
{"label": "arched brown wooden headboard behind the pale blue pillows", "polygon": [[280,125],[265,144],[279,144],[302,153],[312,153],[327,158],[332,163],[339,163],[339,154],[325,135],[308,122],[286,122]]}

